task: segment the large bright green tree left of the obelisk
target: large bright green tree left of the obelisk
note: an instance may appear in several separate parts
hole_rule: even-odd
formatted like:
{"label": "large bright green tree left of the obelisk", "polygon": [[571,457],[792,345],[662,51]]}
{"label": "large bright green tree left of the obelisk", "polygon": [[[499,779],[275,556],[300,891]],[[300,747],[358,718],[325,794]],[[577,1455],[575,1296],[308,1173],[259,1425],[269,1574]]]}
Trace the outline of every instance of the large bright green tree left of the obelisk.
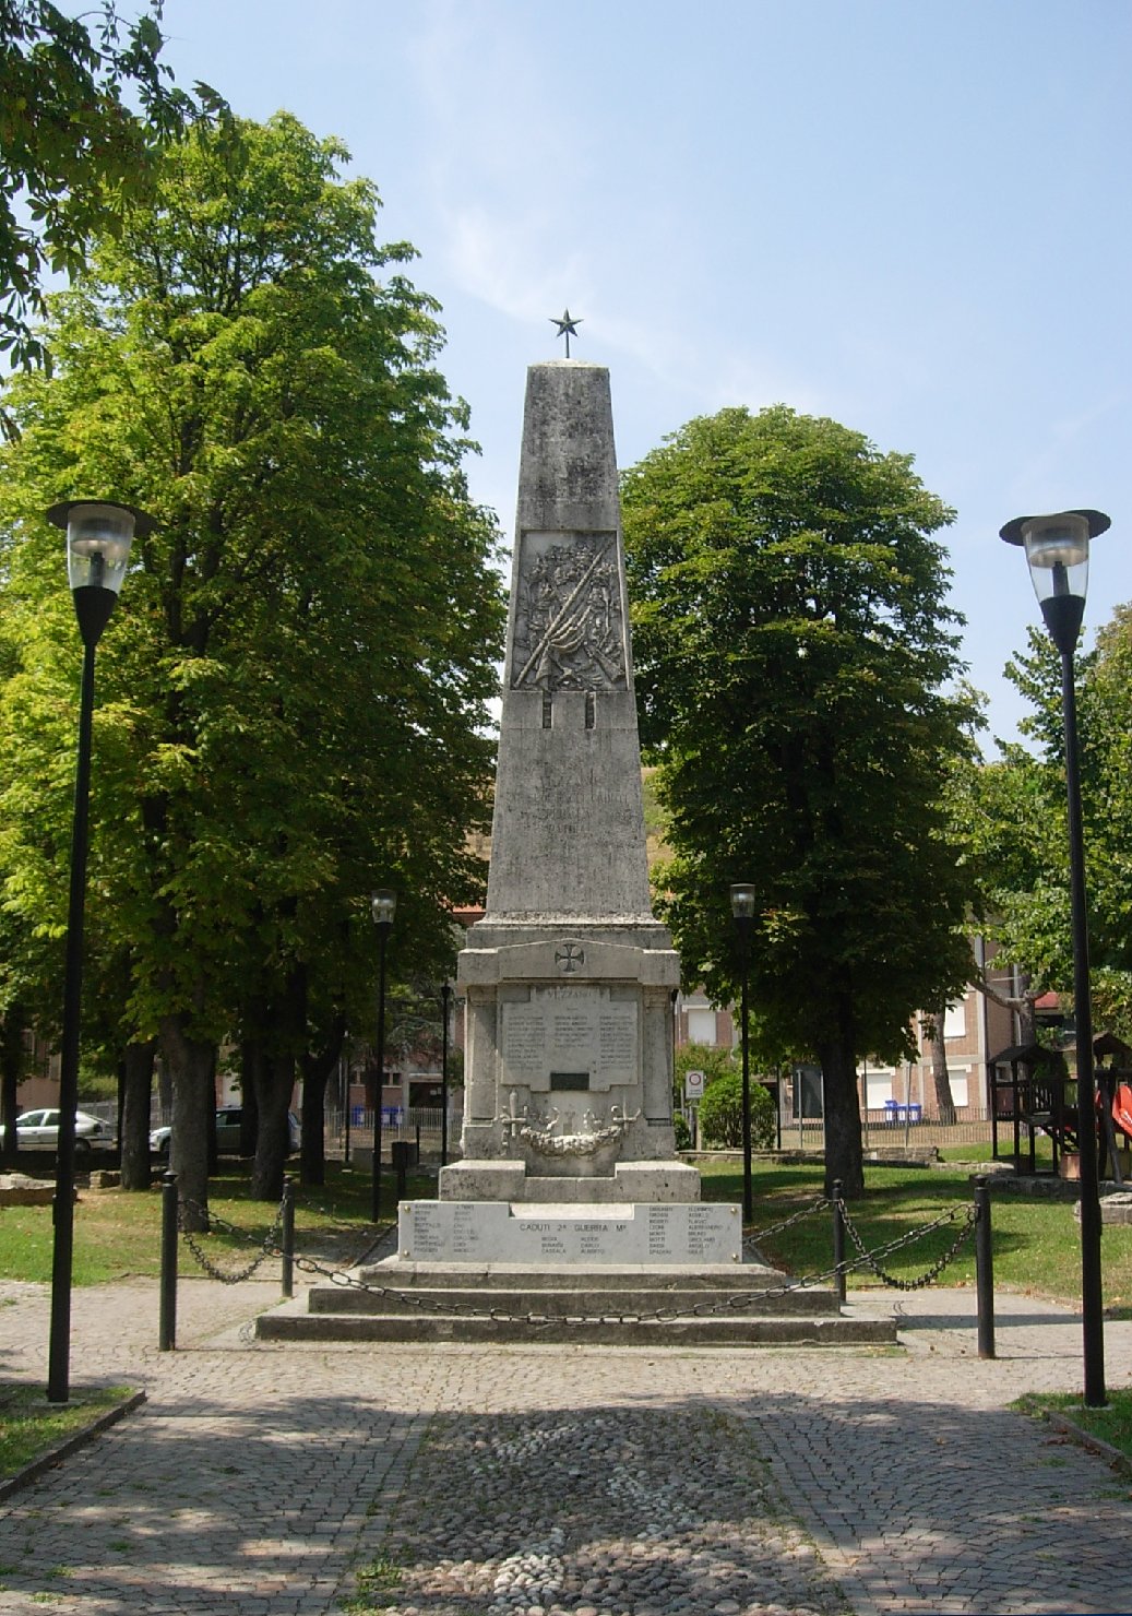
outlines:
{"label": "large bright green tree left of the obelisk", "polygon": [[123,1049],[160,1039],[197,1204],[218,1042],[244,1052],[275,1196],[297,1067],[325,1081],[371,1015],[371,887],[400,892],[391,973],[439,976],[447,908],[483,886],[496,528],[434,304],[344,158],[284,115],[192,131],[57,301],[55,375],[8,389],[6,711],[34,745],[0,766],[6,902],[40,928],[65,902],[78,648],[40,512],[111,491],[158,527],[100,648],[90,944]]}

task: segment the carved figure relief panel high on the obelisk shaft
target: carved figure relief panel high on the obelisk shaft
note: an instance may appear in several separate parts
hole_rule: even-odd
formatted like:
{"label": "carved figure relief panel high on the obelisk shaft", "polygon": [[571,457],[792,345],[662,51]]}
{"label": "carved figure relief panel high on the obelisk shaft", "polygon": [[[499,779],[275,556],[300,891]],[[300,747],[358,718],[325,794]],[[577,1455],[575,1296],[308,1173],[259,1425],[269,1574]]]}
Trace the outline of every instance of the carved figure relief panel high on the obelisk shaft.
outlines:
{"label": "carved figure relief panel high on the obelisk shaft", "polygon": [[512,688],[628,688],[615,533],[523,533],[514,611]]}

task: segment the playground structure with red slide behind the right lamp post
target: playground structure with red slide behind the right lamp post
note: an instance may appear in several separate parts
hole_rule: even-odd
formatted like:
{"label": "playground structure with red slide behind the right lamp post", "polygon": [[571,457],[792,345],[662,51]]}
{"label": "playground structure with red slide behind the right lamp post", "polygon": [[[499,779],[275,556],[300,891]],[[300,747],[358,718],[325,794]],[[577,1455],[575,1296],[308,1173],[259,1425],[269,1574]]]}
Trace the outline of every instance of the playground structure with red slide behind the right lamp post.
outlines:
{"label": "playground structure with red slide behind the right lamp post", "polygon": [[[1132,1049],[1111,1033],[1093,1041],[1096,1060],[1098,1144],[1101,1178],[1122,1185],[1132,1147]],[[1043,1044],[1013,1044],[988,1062],[992,1154],[1014,1162],[1016,1172],[1075,1176],[1080,1154],[1077,1079],[1059,1050]],[[1004,1070],[1008,1068],[1008,1071]],[[1008,1131],[1009,1147],[1000,1134]],[[1050,1139],[1051,1160],[1038,1160],[1038,1139]]]}

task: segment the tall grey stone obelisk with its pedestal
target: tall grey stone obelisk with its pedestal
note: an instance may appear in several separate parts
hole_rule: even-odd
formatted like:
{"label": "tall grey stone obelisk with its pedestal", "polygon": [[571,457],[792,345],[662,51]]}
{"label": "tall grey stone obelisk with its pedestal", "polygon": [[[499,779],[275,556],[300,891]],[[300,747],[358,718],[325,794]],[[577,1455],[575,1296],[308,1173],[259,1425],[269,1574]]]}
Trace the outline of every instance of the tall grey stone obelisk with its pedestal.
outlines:
{"label": "tall grey stone obelisk with its pedestal", "polygon": [[691,1202],[672,1133],[680,962],[652,918],[609,372],[526,380],[463,1160],[441,1201]]}

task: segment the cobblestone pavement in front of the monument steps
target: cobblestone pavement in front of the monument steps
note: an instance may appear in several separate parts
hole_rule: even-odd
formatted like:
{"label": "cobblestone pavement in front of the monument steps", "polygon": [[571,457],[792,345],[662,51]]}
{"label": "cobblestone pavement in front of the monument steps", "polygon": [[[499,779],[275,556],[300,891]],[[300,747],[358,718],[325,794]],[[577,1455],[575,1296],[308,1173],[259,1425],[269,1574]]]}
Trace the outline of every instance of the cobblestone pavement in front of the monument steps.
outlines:
{"label": "cobblestone pavement in front of the monument steps", "polygon": [[[1011,1414],[1080,1385],[1080,1327],[971,1291],[904,1348],[276,1346],[276,1286],[76,1291],[73,1382],[149,1401],[0,1504],[0,1613],[1130,1613],[1132,1483]],[[890,1311],[854,1293],[854,1311]],[[0,1283],[0,1377],[42,1380],[44,1286]],[[1106,1330],[1132,1383],[1132,1324]]]}

